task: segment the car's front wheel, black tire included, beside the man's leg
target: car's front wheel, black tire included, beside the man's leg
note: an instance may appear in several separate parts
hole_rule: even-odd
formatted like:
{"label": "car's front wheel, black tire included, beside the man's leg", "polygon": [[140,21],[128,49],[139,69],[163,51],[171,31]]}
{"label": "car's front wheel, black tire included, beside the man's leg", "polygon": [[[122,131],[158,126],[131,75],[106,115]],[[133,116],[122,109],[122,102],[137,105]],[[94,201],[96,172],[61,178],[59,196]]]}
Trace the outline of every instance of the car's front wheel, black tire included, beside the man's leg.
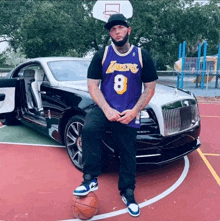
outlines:
{"label": "car's front wheel, black tire included, beside the man's leg", "polygon": [[64,141],[67,153],[74,166],[82,170],[82,140],[81,132],[84,125],[83,116],[71,117],[66,125],[64,133]]}

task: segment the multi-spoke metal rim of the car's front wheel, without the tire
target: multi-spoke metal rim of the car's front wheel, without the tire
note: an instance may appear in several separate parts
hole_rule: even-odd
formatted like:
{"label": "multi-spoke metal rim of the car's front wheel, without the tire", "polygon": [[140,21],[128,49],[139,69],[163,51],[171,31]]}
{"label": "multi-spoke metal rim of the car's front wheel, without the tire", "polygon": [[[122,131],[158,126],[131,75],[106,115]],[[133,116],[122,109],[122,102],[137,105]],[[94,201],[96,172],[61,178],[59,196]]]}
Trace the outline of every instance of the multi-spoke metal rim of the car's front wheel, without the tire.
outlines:
{"label": "multi-spoke metal rim of the car's front wheel, without the tire", "polygon": [[80,122],[72,122],[67,128],[66,146],[69,156],[74,165],[80,169],[83,167],[82,163],[82,132],[83,124]]}

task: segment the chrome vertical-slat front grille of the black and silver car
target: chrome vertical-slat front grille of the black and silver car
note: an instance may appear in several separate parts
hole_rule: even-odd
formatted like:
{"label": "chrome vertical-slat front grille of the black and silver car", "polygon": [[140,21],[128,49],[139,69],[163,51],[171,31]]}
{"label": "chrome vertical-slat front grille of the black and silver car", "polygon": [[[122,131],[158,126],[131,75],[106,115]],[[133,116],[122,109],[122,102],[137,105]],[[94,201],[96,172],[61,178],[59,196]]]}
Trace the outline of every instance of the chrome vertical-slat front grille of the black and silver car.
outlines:
{"label": "chrome vertical-slat front grille of the black and silver car", "polygon": [[[197,104],[191,106],[162,108],[164,118],[164,134],[171,135],[192,128],[199,120]],[[190,104],[189,104],[190,105]]]}

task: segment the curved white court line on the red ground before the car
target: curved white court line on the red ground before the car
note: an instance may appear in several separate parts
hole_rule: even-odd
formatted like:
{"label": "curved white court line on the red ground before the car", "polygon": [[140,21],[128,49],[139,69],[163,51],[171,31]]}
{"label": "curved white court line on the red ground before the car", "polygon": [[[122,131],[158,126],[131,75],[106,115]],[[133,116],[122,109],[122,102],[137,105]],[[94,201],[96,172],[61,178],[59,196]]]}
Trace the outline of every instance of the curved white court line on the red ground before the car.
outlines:
{"label": "curved white court line on the red ground before the car", "polygon": [[[183,172],[182,172],[181,176],[179,177],[179,179],[170,188],[168,188],[167,190],[165,190],[161,194],[147,200],[146,202],[140,203],[139,204],[140,208],[151,205],[151,204],[163,199],[164,197],[166,197],[170,193],[172,193],[174,190],[176,190],[180,186],[180,184],[182,184],[182,182],[185,180],[185,178],[187,176],[187,173],[189,171],[189,159],[188,159],[187,156],[184,156],[184,161],[185,161],[185,166],[184,166]],[[90,220],[106,219],[106,218],[122,215],[122,214],[125,214],[127,212],[128,212],[127,208],[126,209],[121,209],[121,210],[118,210],[118,211],[115,211],[115,212],[110,212],[110,213],[105,213],[105,214],[100,214],[100,215],[94,216]],[[80,219],[68,219],[68,220],[62,220],[62,221],[79,221],[79,220]]]}

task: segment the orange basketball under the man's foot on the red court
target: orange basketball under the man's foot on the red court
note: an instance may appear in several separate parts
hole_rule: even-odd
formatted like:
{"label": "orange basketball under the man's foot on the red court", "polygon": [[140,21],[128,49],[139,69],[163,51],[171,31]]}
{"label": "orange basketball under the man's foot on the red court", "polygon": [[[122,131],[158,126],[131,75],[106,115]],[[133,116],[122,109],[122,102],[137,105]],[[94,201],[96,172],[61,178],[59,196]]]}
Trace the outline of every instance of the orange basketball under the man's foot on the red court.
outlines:
{"label": "orange basketball under the man's foot on the red court", "polygon": [[98,197],[94,192],[87,196],[73,196],[73,215],[81,220],[88,220],[98,212]]}

